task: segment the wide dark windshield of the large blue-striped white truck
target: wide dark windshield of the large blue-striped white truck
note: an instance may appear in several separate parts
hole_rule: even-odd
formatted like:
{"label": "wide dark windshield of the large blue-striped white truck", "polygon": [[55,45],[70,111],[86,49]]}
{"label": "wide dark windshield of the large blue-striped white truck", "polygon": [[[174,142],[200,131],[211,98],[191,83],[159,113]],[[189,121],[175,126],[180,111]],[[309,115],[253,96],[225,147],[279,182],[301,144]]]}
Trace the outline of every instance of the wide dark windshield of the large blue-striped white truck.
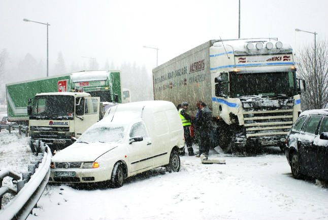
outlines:
{"label": "wide dark windshield of the large blue-striped white truck", "polygon": [[247,95],[292,96],[297,94],[295,72],[265,72],[256,74],[230,75],[231,97]]}

